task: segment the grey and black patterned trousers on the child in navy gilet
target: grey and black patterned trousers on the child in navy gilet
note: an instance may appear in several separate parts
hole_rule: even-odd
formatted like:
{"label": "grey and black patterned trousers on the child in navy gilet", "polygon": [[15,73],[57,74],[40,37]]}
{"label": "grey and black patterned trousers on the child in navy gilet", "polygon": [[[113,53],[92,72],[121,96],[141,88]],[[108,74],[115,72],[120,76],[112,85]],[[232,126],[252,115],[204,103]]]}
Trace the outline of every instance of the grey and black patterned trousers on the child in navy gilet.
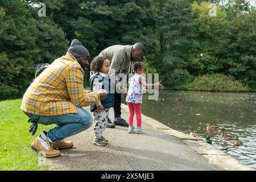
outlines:
{"label": "grey and black patterned trousers on the child in navy gilet", "polygon": [[94,134],[95,134],[95,139],[98,139],[102,136],[102,133],[106,129],[106,124],[108,121],[108,115],[109,115],[109,108],[104,109],[102,112],[94,111],[93,112],[93,121],[95,122],[94,125]]}

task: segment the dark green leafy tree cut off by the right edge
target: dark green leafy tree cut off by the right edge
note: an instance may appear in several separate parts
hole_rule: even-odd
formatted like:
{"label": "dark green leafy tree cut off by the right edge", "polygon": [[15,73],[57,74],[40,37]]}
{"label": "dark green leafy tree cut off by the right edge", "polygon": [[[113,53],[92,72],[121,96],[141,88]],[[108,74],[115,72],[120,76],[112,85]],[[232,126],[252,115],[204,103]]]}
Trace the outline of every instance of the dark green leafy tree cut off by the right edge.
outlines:
{"label": "dark green leafy tree cut off by the right edge", "polygon": [[226,74],[245,81],[256,88],[256,11],[237,13],[230,22],[229,34],[226,34]]}

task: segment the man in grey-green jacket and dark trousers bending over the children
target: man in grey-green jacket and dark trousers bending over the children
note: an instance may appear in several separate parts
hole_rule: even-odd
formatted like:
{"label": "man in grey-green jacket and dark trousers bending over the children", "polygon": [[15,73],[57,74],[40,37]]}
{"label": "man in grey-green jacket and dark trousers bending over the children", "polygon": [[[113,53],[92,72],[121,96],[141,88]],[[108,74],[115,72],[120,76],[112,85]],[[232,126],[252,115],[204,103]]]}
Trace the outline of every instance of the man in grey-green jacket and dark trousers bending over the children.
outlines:
{"label": "man in grey-green jacket and dark trousers bending over the children", "polygon": [[[135,43],[128,46],[110,46],[101,51],[99,56],[105,56],[111,61],[110,76],[116,76],[118,73],[124,73],[126,76],[129,73],[131,63],[138,61],[144,55],[145,48],[142,43]],[[111,72],[114,69],[114,72]],[[115,75],[113,75],[115,74]],[[119,85],[120,90],[127,90],[122,88],[121,79],[115,77],[115,85]],[[126,126],[128,123],[125,119],[121,118],[121,96],[122,92],[115,88],[114,93],[114,123],[108,118],[107,127],[115,127],[115,125]]]}

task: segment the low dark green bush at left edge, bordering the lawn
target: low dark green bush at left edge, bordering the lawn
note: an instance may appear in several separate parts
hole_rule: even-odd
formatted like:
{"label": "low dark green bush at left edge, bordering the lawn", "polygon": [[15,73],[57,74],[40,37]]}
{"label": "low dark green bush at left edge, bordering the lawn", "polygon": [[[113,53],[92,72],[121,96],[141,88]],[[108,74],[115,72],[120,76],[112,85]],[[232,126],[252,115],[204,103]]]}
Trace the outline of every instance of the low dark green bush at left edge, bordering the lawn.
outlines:
{"label": "low dark green bush at left edge, bordering the lawn", "polygon": [[0,87],[0,101],[2,100],[14,100],[16,98],[22,98],[23,92],[10,86]]}

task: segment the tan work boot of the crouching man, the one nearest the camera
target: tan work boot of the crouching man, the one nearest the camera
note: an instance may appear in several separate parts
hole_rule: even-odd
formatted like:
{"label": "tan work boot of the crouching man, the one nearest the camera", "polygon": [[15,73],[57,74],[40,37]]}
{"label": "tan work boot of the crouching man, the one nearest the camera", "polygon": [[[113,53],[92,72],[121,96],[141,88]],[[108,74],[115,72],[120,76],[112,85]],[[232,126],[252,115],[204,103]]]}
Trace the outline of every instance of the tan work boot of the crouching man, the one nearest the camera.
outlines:
{"label": "tan work boot of the crouching man, the one nearest the camera", "polygon": [[39,135],[39,137],[36,137],[34,142],[31,144],[31,148],[34,151],[40,152],[43,156],[46,158],[57,158],[60,156],[59,150],[54,150],[52,148],[52,140],[46,137],[46,133],[43,133]]}

